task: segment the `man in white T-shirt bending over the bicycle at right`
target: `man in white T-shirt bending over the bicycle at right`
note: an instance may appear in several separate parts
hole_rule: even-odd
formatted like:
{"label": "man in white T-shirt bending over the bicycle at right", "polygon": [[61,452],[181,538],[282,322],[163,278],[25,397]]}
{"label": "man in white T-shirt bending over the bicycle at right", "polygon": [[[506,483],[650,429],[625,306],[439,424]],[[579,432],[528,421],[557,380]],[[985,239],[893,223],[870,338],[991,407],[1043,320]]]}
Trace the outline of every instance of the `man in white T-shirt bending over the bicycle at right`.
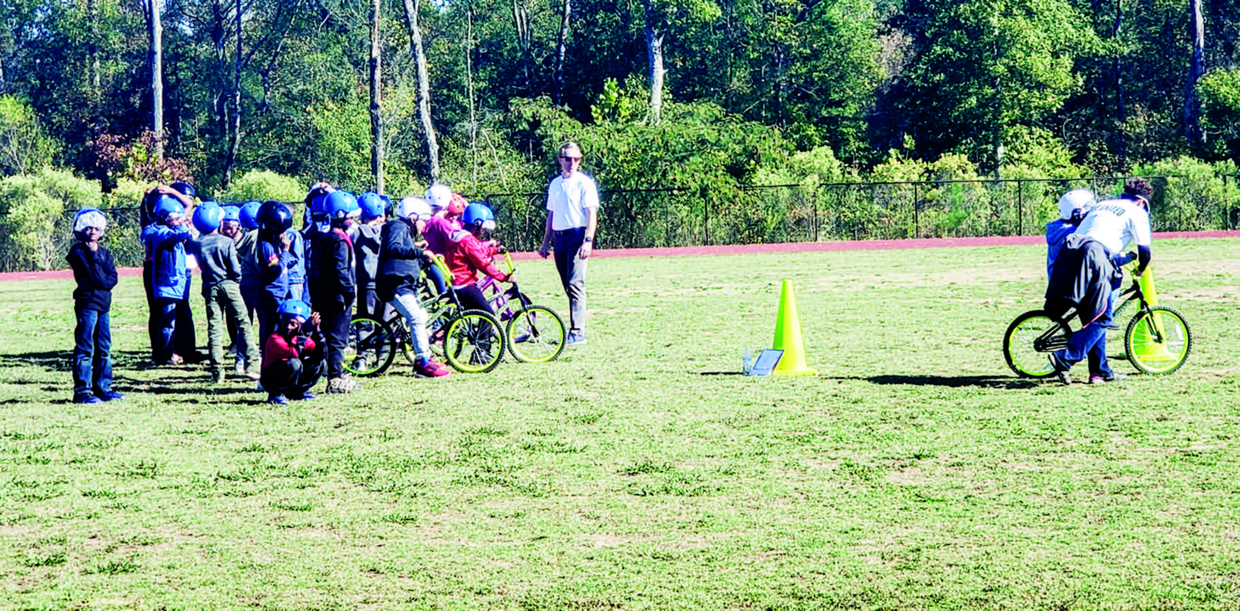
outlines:
{"label": "man in white T-shirt bending over the bicycle at right", "polygon": [[[1068,369],[1085,358],[1090,349],[1106,342],[1106,327],[1111,323],[1112,280],[1122,273],[1115,266],[1114,258],[1135,243],[1137,270],[1133,274],[1142,275],[1149,265],[1152,195],[1153,187],[1145,178],[1128,178],[1118,198],[1097,202],[1089,209],[1076,232],[1064,240],[1064,248],[1055,259],[1047,288],[1045,310],[1059,315],[1075,307],[1081,322],[1081,330],[1073,333],[1068,346],[1050,354],[1050,366],[1064,384],[1071,383]],[[1102,371],[1097,378],[1097,382],[1110,382],[1118,376],[1107,376]]]}

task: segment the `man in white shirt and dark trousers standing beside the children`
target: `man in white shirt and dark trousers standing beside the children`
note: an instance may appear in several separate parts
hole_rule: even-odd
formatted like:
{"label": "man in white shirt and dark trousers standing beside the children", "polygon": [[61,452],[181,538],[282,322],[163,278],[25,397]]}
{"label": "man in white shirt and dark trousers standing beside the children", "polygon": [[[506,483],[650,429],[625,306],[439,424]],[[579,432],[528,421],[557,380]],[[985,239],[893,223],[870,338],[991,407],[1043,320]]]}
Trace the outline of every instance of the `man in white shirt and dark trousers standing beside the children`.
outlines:
{"label": "man in white shirt and dark trousers standing beside the children", "polygon": [[582,147],[559,147],[560,174],[547,187],[547,228],[538,254],[556,250],[556,270],[568,295],[567,346],[585,343],[585,263],[594,247],[599,221],[599,188],[582,174]]}

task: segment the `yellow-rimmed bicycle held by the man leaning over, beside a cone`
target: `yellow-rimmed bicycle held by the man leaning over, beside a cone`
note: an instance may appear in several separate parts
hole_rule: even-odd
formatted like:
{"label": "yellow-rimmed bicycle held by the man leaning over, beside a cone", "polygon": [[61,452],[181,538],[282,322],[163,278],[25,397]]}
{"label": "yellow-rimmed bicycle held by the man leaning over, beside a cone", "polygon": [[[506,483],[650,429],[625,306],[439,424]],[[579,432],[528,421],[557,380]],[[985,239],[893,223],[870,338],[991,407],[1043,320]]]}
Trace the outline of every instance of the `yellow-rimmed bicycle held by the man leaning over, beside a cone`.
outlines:
{"label": "yellow-rimmed bicycle held by the man leaning over, beside a cone", "polygon": [[[1123,331],[1125,356],[1132,366],[1154,376],[1179,369],[1193,349],[1193,332],[1184,315],[1158,304],[1153,271],[1147,269],[1143,276],[1135,278],[1118,299],[1123,301],[1116,307],[1114,319],[1118,319],[1130,304],[1138,304],[1137,314]],[[1003,358],[1008,367],[1022,378],[1053,376],[1055,372],[1047,353],[1068,345],[1074,320],[1075,310],[1058,319],[1045,310],[1017,316],[1003,333]]]}

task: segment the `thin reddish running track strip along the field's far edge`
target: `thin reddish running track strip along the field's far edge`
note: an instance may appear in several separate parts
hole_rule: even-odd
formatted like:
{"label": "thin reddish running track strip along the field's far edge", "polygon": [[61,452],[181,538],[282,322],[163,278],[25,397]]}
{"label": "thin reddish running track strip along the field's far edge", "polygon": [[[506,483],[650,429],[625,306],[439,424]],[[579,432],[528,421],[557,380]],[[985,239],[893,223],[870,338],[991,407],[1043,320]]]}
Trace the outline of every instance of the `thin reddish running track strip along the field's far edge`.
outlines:
{"label": "thin reddish running track strip along the field's far edge", "polygon": [[[1156,239],[1173,238],[1240,238],[1240,231],[1218,232],[1163,232],[1154,233]],[[898,250],[908,248],[951,248],[951,247],[1007,247],[1045,244],[1042,235],[996,235],[990,238],[916,238],[916,239],[862,239],[841,242],[786,242],[780,244],[737,244],[714,247],[670,247],[670,248],[615,248],[595,250],[591,258],[610,257],[698,257],[720,254],[764,254],[764,253],[838,253],[847,250]],[[537,259],[538,253],[512,253],[513,260]],[[141,275],[141,268],[120,268],[122,276]],[[73,278],[68,269],[47,271],[5,271],[0,273],[0,283],[16,280],[60,280]]]}

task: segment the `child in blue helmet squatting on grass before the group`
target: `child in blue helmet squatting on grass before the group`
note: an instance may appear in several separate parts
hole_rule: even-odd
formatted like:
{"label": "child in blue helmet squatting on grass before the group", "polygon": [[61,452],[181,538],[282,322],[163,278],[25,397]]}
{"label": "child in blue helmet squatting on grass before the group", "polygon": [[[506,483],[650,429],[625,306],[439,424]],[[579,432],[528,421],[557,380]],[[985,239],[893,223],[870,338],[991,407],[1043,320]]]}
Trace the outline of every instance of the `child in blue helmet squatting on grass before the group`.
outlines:
{"label": "child in blue helmet squatting on grass before the group", "polygon": [[310,392],[322,378],[322,332],[319,312],[299,299],[289,299],[277,307],[279,323],[267,338],[263,351],[263,389],[268,403],[283,405],[291,400],[314,399]]}

